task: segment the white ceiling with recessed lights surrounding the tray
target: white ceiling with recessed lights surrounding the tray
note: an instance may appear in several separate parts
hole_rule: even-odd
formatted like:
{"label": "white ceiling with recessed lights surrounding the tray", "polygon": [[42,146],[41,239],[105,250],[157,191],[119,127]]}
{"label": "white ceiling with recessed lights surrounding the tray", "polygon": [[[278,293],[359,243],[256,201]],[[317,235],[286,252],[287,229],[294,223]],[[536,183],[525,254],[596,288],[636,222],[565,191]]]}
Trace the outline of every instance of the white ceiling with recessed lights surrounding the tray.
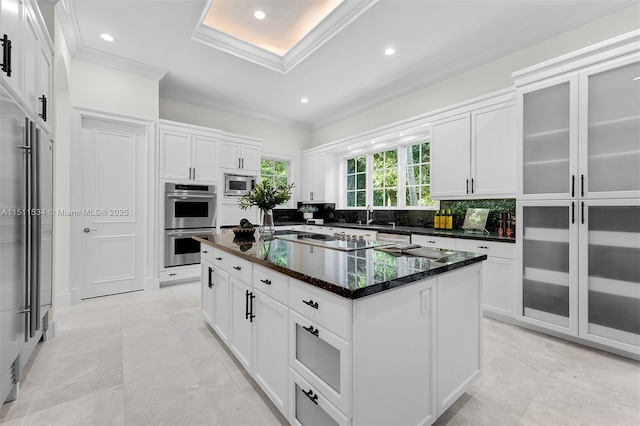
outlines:
{"label": "white ceiling with recessed lights surrounding the tray", "polygon": [[[300,3],[213,1],[236,15],[258,3],[279,6],[261,22]],[[317,129],[635,1],[347,0],[292,48],[289,62],[251,43],[238,47],[236,37],[226,35],[225,44],[205,34],[211,0],[60,3],[76,57],[161,77],[161,97]],[[385,55],[388,47],[394,55]]]}

